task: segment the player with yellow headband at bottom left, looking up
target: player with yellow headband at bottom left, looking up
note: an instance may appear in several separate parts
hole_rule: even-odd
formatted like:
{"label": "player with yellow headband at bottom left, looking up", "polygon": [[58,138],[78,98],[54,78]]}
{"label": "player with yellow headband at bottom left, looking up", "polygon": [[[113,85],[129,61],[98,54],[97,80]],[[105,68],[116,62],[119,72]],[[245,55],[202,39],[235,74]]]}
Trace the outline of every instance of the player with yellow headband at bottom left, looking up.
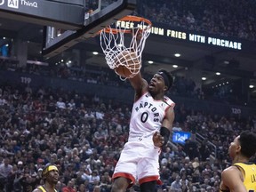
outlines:
{"label": "player with yellow headband at bottom left, looking up", "polygon": [[59,180],[59,170],[54,164],[47,164],[42,172],[44,185],[37,187],[33,192],[57,192],[55,186]]}

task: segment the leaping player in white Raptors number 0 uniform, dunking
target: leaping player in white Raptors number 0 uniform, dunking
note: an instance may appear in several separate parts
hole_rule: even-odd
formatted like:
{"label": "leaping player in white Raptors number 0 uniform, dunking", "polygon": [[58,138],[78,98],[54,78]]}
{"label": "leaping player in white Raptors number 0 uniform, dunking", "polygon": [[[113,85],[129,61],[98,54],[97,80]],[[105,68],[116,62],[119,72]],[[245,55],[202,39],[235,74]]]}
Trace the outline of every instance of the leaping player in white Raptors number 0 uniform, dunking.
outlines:
{"label": "leaping player in white Raptors number 0 uniform, dunking", "polygon": [[135,90],[129,139],[116,164],[111,191],[126,191],[139,181],[140,191],[153,192],[161,183],[158,158],[174,120],[174,102],[164,96],[173,80],[161,69],[149,84],[140,73],[129,81]]}

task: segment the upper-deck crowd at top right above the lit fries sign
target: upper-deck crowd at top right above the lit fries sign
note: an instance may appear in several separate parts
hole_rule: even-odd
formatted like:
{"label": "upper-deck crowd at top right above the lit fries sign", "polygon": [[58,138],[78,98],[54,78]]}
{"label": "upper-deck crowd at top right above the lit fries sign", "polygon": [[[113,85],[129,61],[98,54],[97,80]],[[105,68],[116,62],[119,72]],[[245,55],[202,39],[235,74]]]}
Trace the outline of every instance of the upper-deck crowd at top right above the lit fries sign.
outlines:
{"label": "upper-deck crowd at top right above the lit fries sign", "polygon": [[255,41],[255,8],[254,0],[142,0],[138,12],[171,27]]}

